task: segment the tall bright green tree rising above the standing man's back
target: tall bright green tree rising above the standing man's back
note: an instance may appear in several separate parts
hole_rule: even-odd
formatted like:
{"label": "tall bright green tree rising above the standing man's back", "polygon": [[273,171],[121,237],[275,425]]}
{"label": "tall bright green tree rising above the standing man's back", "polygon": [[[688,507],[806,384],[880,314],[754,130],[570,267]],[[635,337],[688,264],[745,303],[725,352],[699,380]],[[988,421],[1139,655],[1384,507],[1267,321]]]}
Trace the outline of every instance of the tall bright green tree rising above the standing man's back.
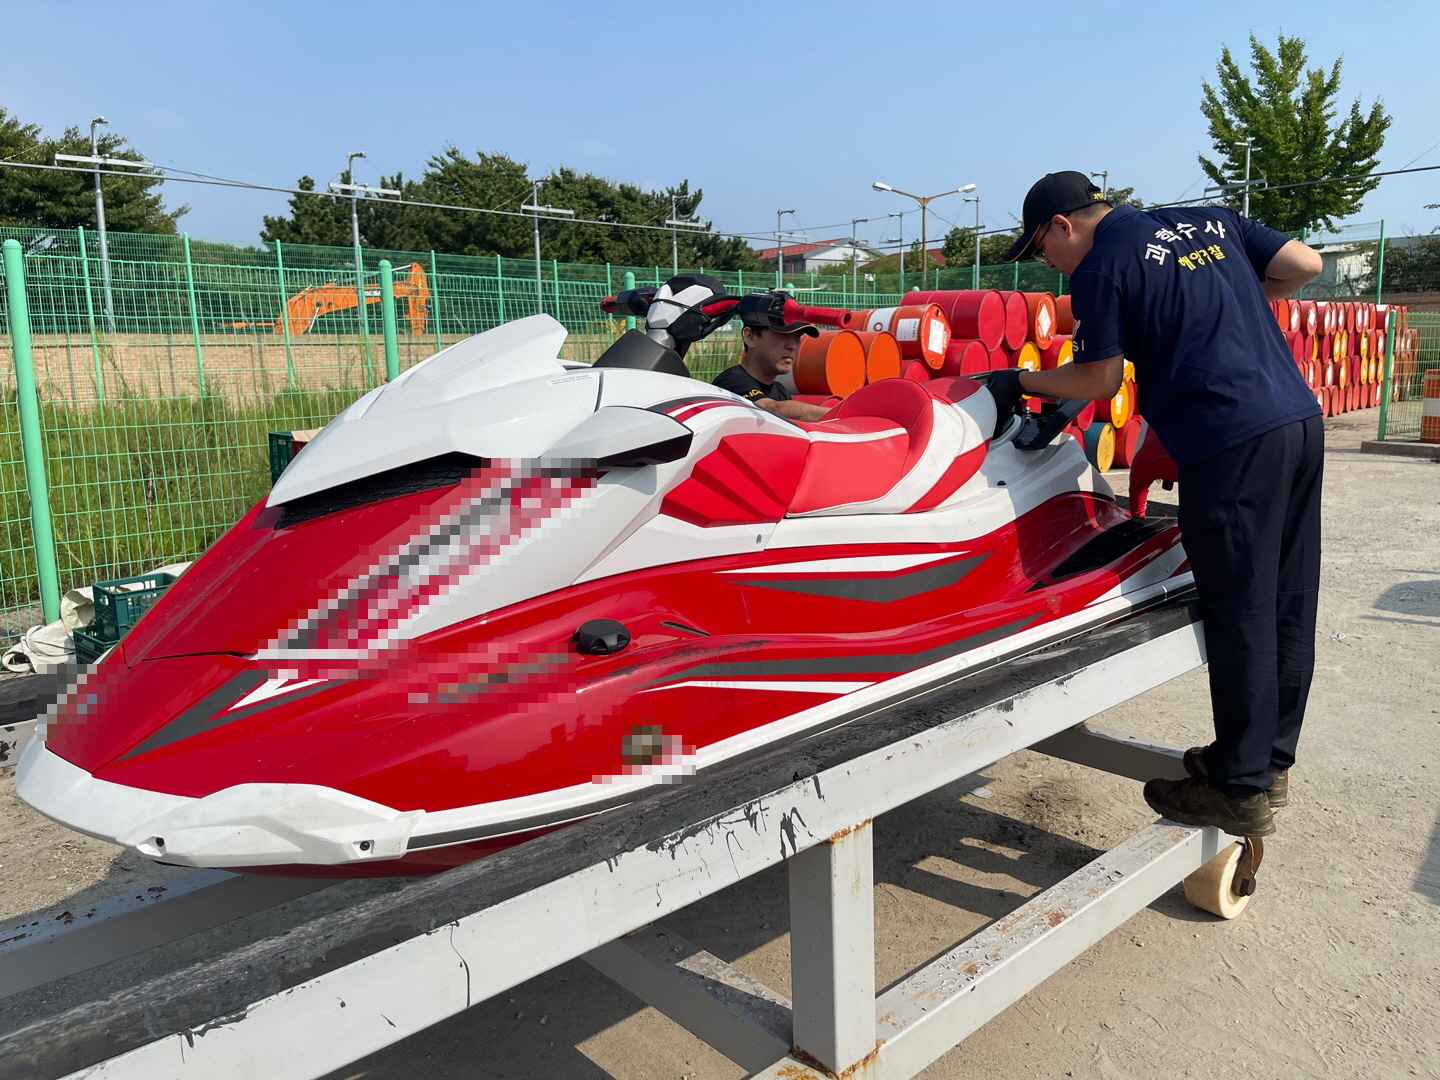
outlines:
{"label": "tall bright green tree rising above the standing man's back", "polygon": [[[1341,60],[1306,71],[1305,42],[1280,35],[1274,52],[1250,36],[1246,75],[1228,48],[1215,66],[1218,85],[1201,84],[1200,111],[1210,121],[1217,158],[1200,156],[1205,176],[1217,184],[1244,179],[1246,140],[1253,141],[1250,176],[1264,177],[1266,189],[1250,193],[1250,215],[1282,232],[1329,228],[1336,217],[1356,210],[1378,180],[1319,183],[1276,190],[1280,184],[1328,177],[1364,176],[1375,168],[1390,117],[1377,101],[1361,109],[1359,98],[1338,124],[1335,98],[1341,86]],[[1227,200],[1238,207],[1243,196]]]}

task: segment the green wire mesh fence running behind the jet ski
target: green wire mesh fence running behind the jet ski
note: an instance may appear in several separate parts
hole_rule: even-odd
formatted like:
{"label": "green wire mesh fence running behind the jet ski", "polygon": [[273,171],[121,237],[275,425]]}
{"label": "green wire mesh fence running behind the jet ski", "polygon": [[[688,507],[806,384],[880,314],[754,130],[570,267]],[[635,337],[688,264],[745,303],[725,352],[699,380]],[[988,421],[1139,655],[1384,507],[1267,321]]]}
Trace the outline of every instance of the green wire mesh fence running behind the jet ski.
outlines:
{"label": "green wire mesh fence running behind the jet ski", "polygon": [[[102,266],[96,238],[85,229],[0,229],[0,239],[17,242],[26,276],[35,452],[48,469],[60,588],[197,554],[264,494],[268,431],[327,423],[379,384],[387,366],[403,370],[541,305],[570,331],[564,356],[589,361],[624,330],[624,320],[600,312],[600,298],[622,289],[626,275],[658,285],[671,272],[541,262],[537,284],[530,259],[364,249],[357,279],[350,248],[275,243],[264,251],[112,232]],[[1372,264],[1385,251],[1377,226],[1326,242],[1359,252],[1355,266],[1365,265],[1365,245]],[[382,261],[393,266],[389,364]],[[1374,287],[1356,274],[1336,278],[1332,295]],[[775,285],[773,271],[714,276],[733,292]],[[1034,262],[932,271],[929,284],[1066,291],[1064,278]],[[919,275],[804,274],[788,275],[785,285],[802,302],[863,310],[899,302],[901,289],[919,287]],[[0,632],[10,634],[42,615],[46,590],[36,567],[48,544],[37,544],[32,524],[35,485],[26,482],[13,374],[17,343],[4,334],[12,301],[0,304]],[[1433,344],[1427,348],[1433,356]],[[688,361],[708,379],[737,356],[737,334],[727,327],[693,348]],[[1407,393],[1394,403],[1392,431],[1408,431]]]}

